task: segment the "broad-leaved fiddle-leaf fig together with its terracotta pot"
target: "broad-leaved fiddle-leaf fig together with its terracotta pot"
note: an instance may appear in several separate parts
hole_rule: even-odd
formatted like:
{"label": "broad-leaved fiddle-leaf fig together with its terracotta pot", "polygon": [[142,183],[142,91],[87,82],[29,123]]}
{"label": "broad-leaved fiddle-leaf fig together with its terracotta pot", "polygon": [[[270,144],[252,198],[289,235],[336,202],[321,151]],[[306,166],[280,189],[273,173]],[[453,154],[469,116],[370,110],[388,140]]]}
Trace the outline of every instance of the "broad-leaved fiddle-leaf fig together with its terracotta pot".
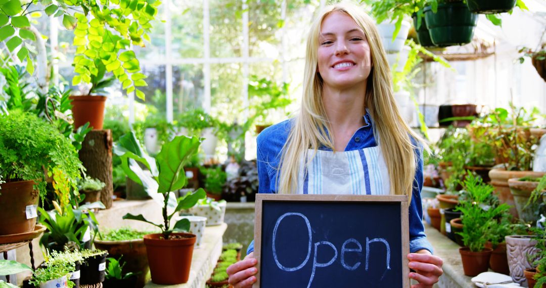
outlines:
{"label": "broad-leaved fiddle-leaf fig together with its terracotta pot", "polygon": [[[123,167],[127,175],[134,177],[136,173],[139,173],[142,179],[138,177],[135,179],[146,183],[151,195],[163,196],[163,224],[152,223],[141,214],[127,213],[123,216],[123,219],[145,221],[162,231],[162,233],[144,236],[152,282],[156,284],[181,284],[186,283],[189,278],[195,235],[177,233],[188,231],[188,219],[181,219],[173,226],[170,220],[182,209],[193,207],[199,199],[205,198],[206,194],[203,189],[198,189],[176,200],[172,192],[186,185],[183,167],[188,158],[198,149],[200,142],[200,139],[195,136],[192,138],[176,136],[163,145],[156,159],[149,158],[143,152],[132,133],[121,137],[116,146],[118,152],[122,154]],[[147,177],[141,174],[142,169],[136,165],[136,161],[150,169],[152,176]]]}

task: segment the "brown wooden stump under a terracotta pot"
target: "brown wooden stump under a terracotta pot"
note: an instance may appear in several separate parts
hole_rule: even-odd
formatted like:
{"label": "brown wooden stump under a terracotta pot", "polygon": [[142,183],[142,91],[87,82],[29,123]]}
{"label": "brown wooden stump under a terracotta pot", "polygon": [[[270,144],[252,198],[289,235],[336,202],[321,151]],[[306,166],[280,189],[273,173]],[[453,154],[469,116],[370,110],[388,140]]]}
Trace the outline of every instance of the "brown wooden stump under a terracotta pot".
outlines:
{"label": "brown wooden stump under a terracotta pot", "polygon": [[81,163],[87,169],[87,175],[106,183],[100,191],[100,201],[106,209],[112,207],[112,131],[92,130],[85,136],[79,152]]}

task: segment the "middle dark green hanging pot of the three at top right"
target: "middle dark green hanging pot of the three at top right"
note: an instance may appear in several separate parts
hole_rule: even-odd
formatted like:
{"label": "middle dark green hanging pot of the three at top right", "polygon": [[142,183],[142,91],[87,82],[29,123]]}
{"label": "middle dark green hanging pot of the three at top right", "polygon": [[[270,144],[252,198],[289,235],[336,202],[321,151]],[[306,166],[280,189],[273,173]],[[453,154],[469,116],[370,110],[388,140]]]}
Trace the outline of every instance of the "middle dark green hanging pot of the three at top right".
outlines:
{"label": "middle dark green hanging pot of the three at top right", "polygon": [[478,14],[471,13],[464,3],[438,4],[434,13],[431,6],[424,9],[426,27],[436,46],[464,45],[472,41]]}

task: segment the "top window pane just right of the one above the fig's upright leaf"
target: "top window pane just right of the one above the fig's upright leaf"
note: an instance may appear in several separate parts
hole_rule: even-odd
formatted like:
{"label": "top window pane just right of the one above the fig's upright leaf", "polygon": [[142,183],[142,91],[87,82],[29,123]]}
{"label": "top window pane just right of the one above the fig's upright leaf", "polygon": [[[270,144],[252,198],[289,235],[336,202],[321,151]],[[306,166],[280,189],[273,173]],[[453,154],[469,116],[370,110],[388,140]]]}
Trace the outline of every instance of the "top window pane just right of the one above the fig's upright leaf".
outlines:
{"label": "top window pane just right of the one above the fig's upright leaf", "polygon": [[209,2],[211,57],[242,56],[242,1]]}

